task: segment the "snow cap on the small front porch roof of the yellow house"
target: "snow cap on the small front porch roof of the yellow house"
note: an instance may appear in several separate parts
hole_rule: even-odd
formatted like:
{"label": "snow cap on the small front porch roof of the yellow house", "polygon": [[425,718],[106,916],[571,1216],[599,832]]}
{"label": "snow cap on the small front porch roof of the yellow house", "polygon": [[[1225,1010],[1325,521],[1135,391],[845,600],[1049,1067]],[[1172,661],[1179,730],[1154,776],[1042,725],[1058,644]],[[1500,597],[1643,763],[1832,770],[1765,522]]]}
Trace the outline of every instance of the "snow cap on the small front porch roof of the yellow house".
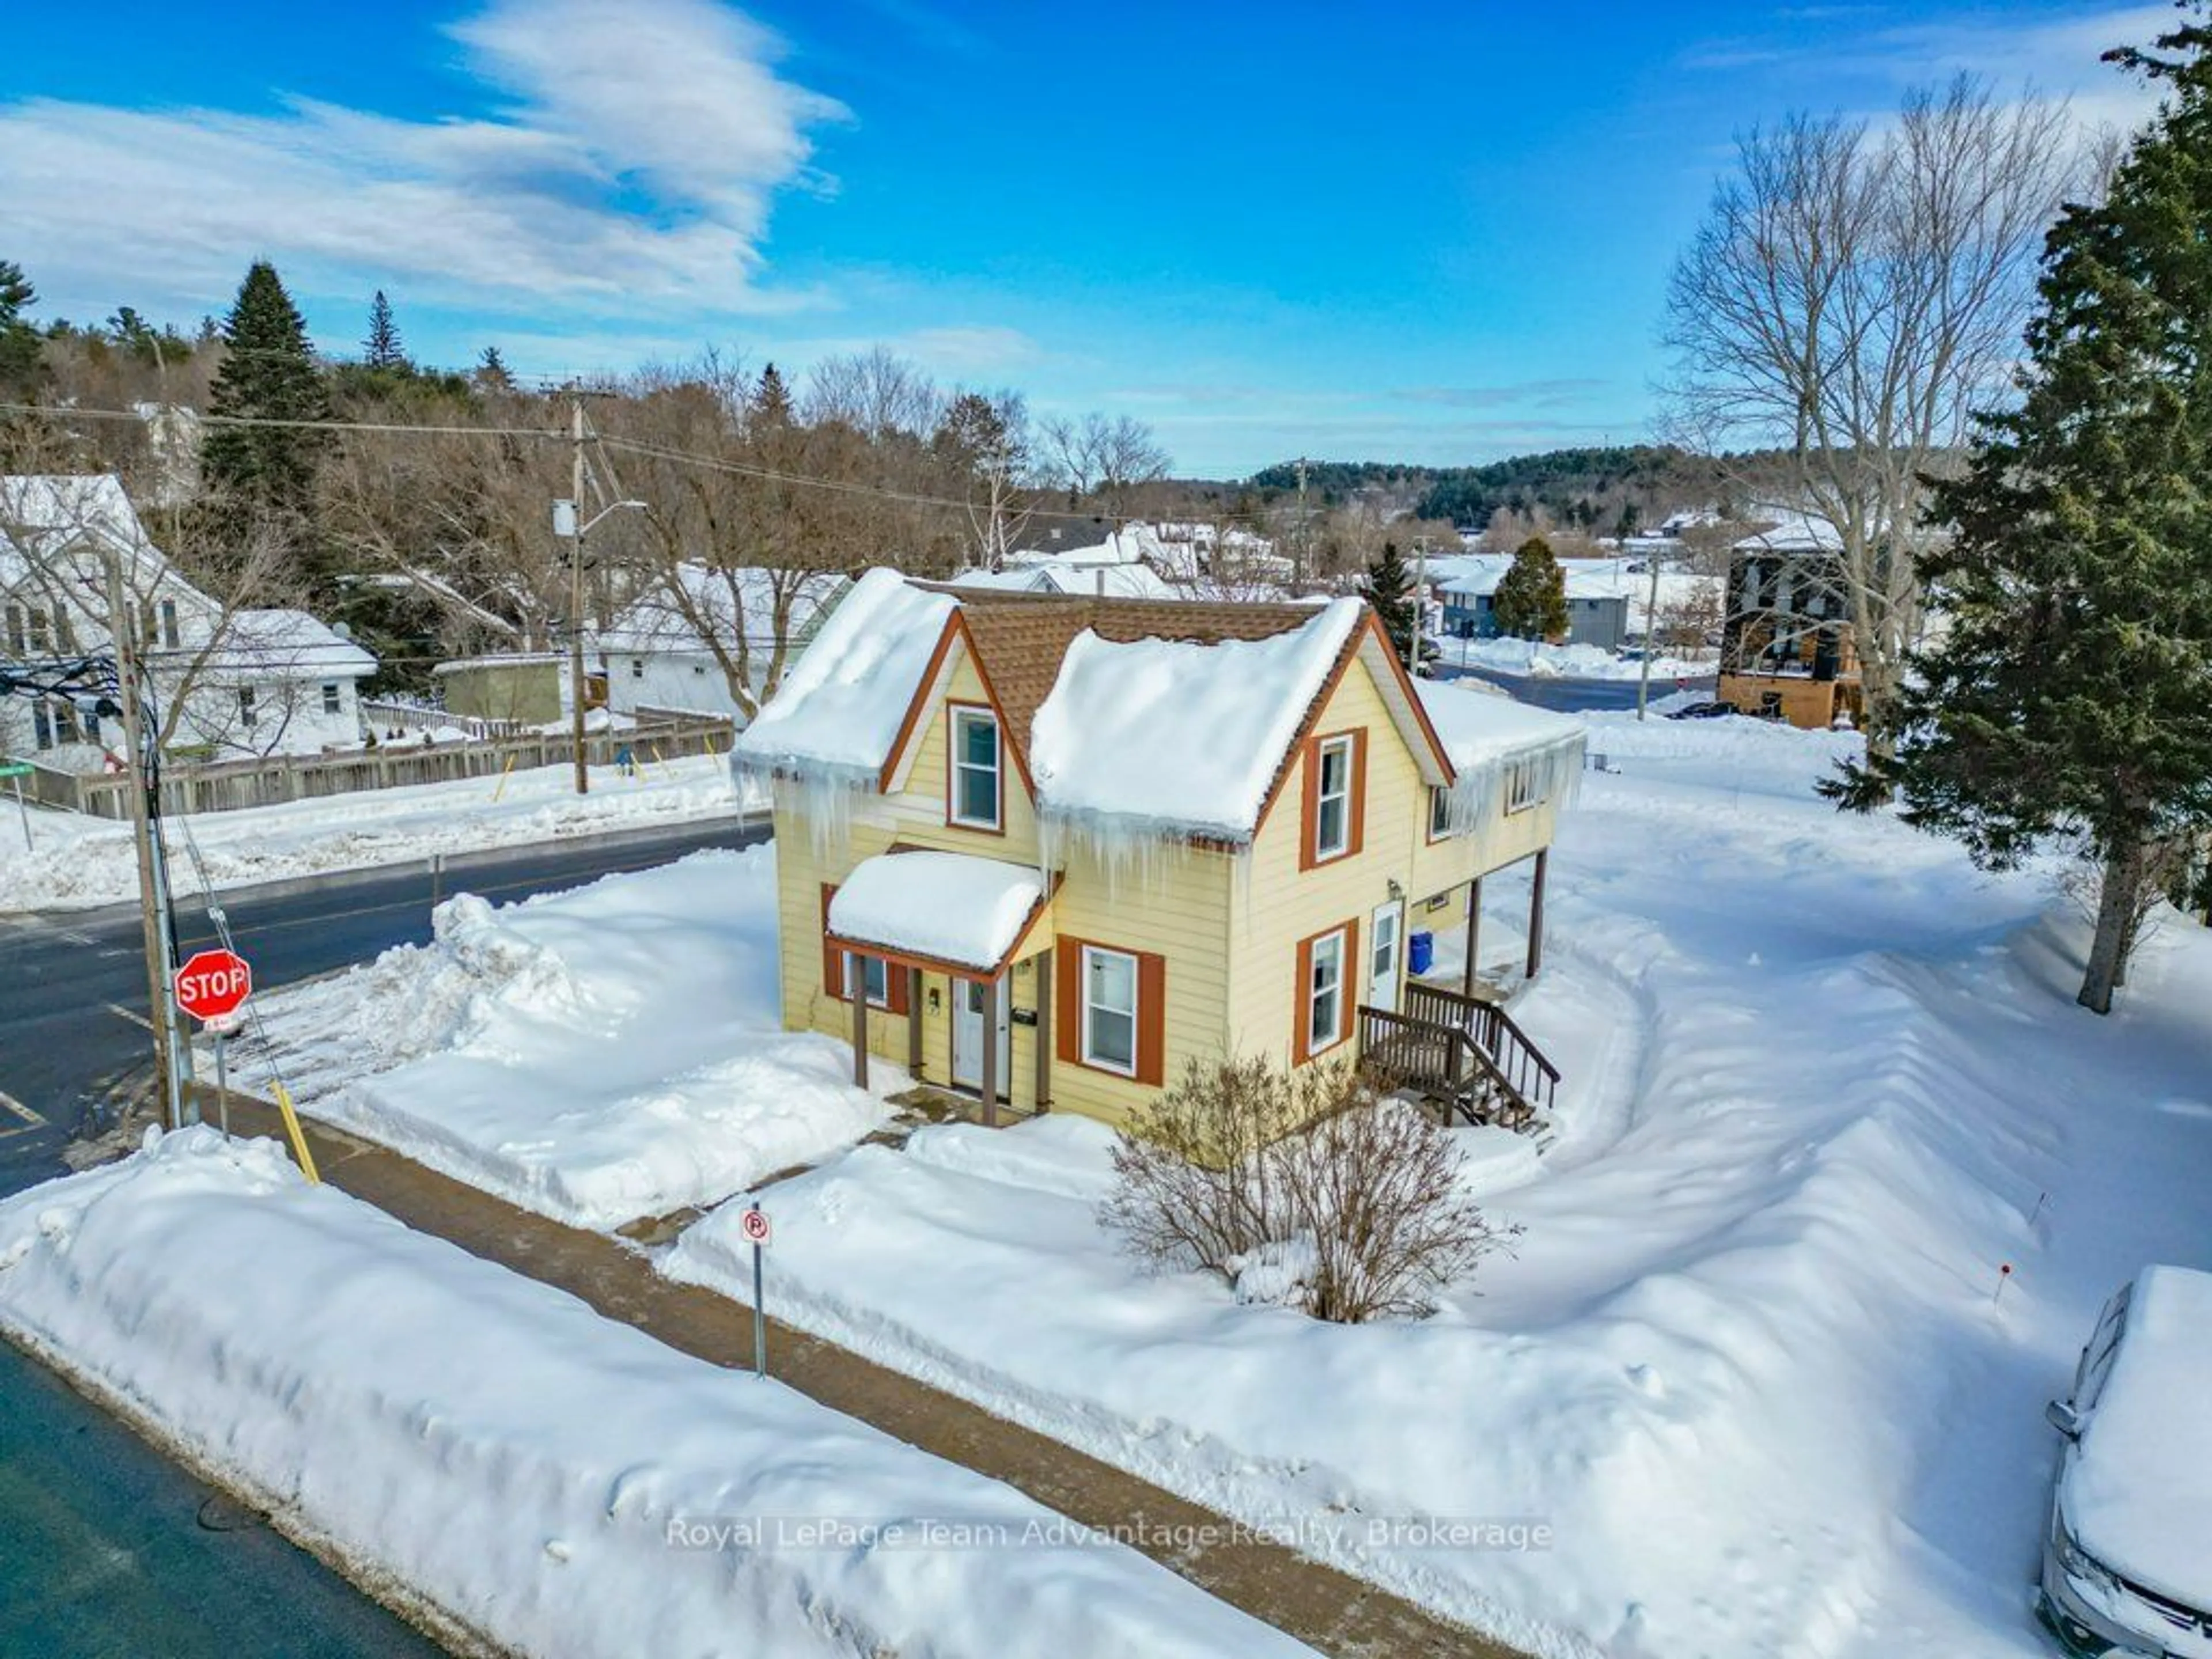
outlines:
{"label": "snow cap on the small front porch roof of the yellow house", "polygon": [[1024,865],[962,852],[863,858],[830,900],[830,931],[847,945],[993,971],[1044,902]]}

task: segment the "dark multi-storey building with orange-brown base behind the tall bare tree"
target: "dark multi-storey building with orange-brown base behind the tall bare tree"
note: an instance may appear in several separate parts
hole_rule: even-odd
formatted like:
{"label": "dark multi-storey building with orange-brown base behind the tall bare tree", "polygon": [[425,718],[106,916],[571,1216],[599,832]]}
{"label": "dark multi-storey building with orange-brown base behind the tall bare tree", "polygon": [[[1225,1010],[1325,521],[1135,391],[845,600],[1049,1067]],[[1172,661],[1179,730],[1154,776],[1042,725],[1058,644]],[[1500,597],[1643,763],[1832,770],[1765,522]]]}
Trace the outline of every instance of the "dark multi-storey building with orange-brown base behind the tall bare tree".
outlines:
{"label": "dark multi-storey building with orange-brown base behind the tall bare tree", "polygon": [[1825,728],[1860,721],[1858,648],[1843,593],[1836,526],[1798,511],[1730,551],[1717,697],[1745,714]]}

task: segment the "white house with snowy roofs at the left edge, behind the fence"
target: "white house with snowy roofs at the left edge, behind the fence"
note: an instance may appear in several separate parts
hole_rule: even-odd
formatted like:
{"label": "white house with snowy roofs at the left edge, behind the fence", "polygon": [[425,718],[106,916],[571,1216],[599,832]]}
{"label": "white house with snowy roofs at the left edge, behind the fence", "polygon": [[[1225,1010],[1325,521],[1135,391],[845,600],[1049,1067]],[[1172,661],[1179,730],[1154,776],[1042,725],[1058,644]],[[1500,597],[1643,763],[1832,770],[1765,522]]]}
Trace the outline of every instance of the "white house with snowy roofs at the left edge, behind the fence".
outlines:
{"label": "white house with snowy roofs at the left edge, behind the fence", "polygon": [[[113,650],[111,568],[155,708],[175,712],[173,754],[319,754],[361,739],[358,686],[376,672],[367,650],[305,611],[226,608],[201,593],[113,476],[0,478],[0,657]],[[75,699],[0,699],[0,752],[93,770],[119,743],[119,721]]]}

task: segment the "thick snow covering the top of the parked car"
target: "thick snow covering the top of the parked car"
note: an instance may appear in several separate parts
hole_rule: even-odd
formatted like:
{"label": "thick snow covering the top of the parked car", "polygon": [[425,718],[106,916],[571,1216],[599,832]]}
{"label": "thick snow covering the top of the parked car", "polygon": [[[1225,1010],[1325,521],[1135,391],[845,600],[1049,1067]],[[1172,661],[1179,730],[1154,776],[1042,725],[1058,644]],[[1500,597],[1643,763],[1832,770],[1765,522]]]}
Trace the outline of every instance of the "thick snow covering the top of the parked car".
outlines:
{"label": "thick snow covering the top of the parked car", "polygon": [[2212,1601],[2212,1274],[2146,1267],[2128,1296],[2062,1504],[2081,1548],[2192,1606]]}

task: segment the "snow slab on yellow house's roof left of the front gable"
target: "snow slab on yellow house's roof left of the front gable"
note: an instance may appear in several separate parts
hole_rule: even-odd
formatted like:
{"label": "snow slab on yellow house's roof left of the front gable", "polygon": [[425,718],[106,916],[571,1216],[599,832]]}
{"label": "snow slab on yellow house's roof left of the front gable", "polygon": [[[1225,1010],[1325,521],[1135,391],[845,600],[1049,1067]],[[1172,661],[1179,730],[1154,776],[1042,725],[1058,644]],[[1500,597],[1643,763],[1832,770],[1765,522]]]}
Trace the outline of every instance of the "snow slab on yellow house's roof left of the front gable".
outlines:
{"label": "snow slab on yellow house's roof left of the front gable", "polygon": [[732,761],[874,785],[953,608],[898,571],[863,575],[739,732]]}

